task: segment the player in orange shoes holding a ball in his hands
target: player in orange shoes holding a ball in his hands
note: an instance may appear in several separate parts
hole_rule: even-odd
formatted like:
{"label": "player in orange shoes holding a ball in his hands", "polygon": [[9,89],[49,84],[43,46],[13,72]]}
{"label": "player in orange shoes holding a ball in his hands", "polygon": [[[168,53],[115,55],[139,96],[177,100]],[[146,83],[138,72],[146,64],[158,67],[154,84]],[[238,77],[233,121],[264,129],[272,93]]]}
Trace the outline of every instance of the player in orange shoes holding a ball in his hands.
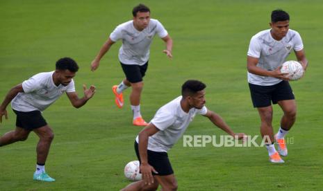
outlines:
{"label": "player in orange shoes holding a ball in his hands", "polygon": [[[281,65],[291,51],[295,52],[304,70],[308,65],[301,36],[289,29],[290,17],[283,10],[274,10],[270,29],[263,30],[251,38],[247,53],[248,82],[251,100],[258,109],[261,120],[260,133],[272,163],[283,163],[281,156],[287,156],[284,136],[296,119],[296,102],[287,73],[281,73]],[[283,110],[281,127],[274,136],[272,128],[272,103]],[[270,140],[269,140],[270,139]],[[278,152],[274,147],[277,142]],[[280,156],[281,155],[281,156]]]}

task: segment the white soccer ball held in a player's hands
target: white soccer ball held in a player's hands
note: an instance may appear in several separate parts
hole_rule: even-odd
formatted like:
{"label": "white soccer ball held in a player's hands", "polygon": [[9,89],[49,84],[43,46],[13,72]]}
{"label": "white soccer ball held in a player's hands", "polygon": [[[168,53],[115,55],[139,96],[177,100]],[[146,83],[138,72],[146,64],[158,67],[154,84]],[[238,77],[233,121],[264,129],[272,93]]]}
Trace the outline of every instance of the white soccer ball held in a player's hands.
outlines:
{"label": "white soccer ball held in a player's hands", "polygon": [[281,73],[288,73],[290,80],[299,80],[304,74],[304,69],[299,62],[290,60],[283,63],[281,66]]}

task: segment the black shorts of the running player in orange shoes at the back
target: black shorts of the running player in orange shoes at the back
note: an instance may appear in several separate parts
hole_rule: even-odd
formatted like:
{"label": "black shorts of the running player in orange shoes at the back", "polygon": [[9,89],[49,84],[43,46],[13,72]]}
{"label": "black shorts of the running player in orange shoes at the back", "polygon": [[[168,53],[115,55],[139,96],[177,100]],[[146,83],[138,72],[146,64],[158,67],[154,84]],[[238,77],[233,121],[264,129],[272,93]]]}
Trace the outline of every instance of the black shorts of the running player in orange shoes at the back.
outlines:
{"label": "black shorts of the running player in orange shoes at the back", "polygon": [[142,78],[144,78],[144,75],[146,74],[148,68],[148,61],[142,66],[123,64],[122,62],[120,62],[120,64],[122,66],[124,74],[126,75],[126,80],[131,83],[142,82]]}

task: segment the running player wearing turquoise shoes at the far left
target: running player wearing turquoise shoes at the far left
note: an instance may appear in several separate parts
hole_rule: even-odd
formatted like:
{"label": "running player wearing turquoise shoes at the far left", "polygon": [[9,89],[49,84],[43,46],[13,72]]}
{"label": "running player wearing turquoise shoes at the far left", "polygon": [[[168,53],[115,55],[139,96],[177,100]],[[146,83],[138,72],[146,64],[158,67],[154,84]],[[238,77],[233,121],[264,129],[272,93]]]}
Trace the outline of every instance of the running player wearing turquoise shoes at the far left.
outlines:
{"label": "running player wearing turquoise shoes at the far left", "polygon": [[60,98],[64,92],[76,108],[82,107],[94,95],[94,86],[86,89],[83,85],[84,97],[78,98],[73,80],[76,71],[78,71],[78,65],[74,60],[69,57],[61,58],[56,62],[55,71],[38,73],[13,87],[0,105],[0,122],[3,116],[8,119],[6,107],[10,102],[11,108],[17,115],[16,129],[0,137],[0,147],[26,140],[31,131],[40,138],[36,150],[37,165],[33,174],[34,180],[55,181],[46,173],[44,167],[53,140],[53,131],[41,112]]}

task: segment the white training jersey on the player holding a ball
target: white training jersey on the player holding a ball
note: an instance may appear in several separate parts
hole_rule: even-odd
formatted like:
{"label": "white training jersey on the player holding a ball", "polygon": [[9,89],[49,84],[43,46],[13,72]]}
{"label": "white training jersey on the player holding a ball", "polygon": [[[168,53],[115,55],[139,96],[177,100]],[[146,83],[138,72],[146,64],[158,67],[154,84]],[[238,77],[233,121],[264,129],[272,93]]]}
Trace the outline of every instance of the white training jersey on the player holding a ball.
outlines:
{"label": "white training jersey on the player holding a ball", "polygon": [[[257,66],[261,69],[274,71],[285,62],[292,50],[301,51],[304,46],[301,36],[295,30],[289,29],[280,41],[276,41],[272,37],[270,30],[263,30],[251,38],[247,55],[258,58]],[[261,86],[271,86],[278,84],[281,80],[248,72],[248,82]]]}

